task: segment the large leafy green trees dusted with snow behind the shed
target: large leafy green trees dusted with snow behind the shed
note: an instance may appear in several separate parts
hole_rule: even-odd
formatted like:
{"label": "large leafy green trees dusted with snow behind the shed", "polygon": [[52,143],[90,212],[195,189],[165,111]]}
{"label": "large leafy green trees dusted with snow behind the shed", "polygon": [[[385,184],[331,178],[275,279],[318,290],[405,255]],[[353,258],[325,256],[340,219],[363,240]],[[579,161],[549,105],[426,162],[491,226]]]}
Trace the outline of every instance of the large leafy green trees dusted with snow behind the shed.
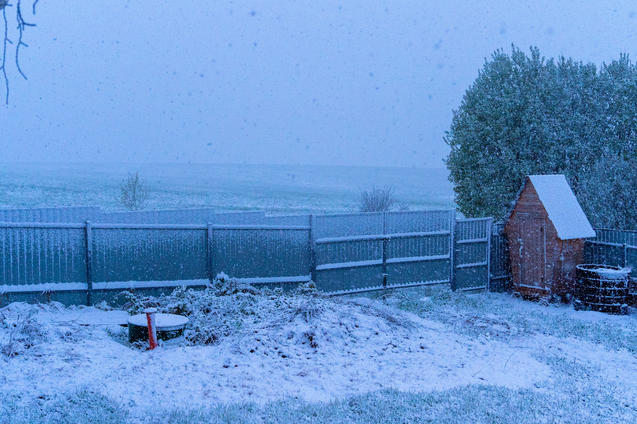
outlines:
{"label": "large leafy green trees dusted with snow behind the shed", "polygon": [[468,217],[501,218],[526,175],[564,174],[594,226],[637,228],[636,129],[637,67],[627,54],[598,70],[537,48],[497,50],[445,137],[455,201]]}

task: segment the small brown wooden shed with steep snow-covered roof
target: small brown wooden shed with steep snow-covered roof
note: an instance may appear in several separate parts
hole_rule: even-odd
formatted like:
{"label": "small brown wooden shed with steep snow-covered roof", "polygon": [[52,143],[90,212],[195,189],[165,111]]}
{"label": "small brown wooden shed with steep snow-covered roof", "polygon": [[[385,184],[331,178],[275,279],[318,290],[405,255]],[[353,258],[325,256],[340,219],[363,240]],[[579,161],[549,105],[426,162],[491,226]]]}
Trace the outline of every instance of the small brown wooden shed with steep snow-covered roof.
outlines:
{"label": "small brown wooden shed with steep snow-covered roof", "polygon": [[[529,175],[506,218],[513,291],[525,297],[573,293],[584,239],[595,231],[564,175]],[[568,296],[566,296],[568,297]]]}

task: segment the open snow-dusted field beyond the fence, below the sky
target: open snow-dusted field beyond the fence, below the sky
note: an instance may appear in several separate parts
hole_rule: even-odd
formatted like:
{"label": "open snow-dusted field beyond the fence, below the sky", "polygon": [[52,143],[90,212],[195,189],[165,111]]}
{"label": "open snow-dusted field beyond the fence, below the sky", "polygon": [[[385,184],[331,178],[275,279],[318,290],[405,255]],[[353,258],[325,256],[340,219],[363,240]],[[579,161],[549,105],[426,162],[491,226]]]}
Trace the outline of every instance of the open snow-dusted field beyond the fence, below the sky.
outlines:
{"label": "open snow-dusted field beyond the fence, below the sky", "polygon": [[411,209],[455,207],[445,169],[125,163],[0,163],[0,207],[99,205],[119,210],[128,172],[147,179],[147,209],[216,207],[350,212],[359,188],[391,184]]}

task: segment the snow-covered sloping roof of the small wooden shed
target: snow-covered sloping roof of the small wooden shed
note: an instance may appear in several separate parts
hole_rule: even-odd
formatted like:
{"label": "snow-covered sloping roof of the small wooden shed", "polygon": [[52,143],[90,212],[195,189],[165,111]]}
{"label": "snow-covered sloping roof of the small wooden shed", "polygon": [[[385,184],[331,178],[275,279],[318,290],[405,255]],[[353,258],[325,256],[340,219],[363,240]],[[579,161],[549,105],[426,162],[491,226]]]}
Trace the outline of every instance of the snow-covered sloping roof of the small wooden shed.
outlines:
{"label": "snow-covered sloping roof of the small wooden shed", "polygon": [[529,179],[559,238],[571,240],[596,236],[564,175],[529,175]]}

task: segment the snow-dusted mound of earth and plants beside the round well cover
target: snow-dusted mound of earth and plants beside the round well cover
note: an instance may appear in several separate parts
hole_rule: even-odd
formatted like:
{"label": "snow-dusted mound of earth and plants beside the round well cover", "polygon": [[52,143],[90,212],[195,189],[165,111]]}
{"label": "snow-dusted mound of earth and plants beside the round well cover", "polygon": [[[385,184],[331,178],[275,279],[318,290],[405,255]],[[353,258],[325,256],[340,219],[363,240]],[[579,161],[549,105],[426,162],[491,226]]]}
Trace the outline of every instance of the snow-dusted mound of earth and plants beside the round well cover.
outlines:
{"label": "snow-dusted mound of earth and plants beside the round well cover", "polygon": [[[189,318],[184,331],[186,345],[232,343],[232,353],[256,353],[268,357],[293,359],[325,353],[335,348],[354,353],[359,341],[399,333],[416,325],[394,308],[366,298],[343,300],[318,292],[313,282],[299,285],[294,292],[282,289],[256,289],[236,278],[217,275],[203,291],[175,289],[168,296],[138,297],[122,292],[131,315],[155,307],[162,313]],[[389,341],[376,345],[380,350],[404,345]],[[419,349],[419,343],[406,349]]]}

